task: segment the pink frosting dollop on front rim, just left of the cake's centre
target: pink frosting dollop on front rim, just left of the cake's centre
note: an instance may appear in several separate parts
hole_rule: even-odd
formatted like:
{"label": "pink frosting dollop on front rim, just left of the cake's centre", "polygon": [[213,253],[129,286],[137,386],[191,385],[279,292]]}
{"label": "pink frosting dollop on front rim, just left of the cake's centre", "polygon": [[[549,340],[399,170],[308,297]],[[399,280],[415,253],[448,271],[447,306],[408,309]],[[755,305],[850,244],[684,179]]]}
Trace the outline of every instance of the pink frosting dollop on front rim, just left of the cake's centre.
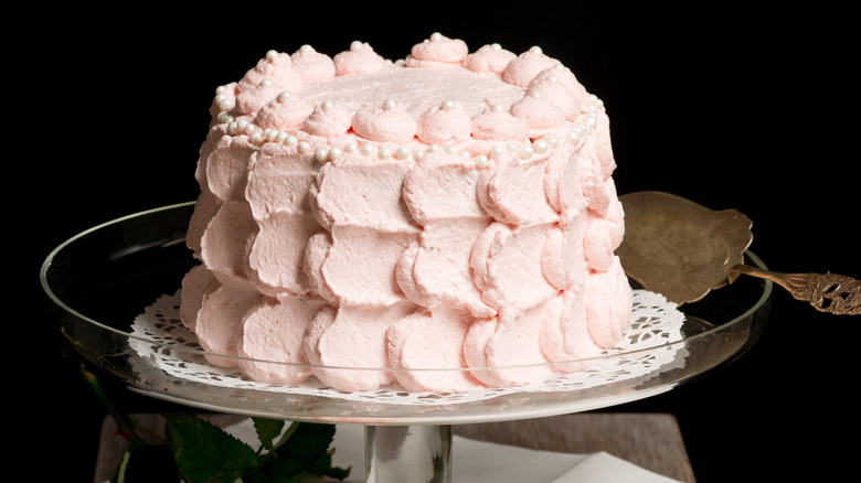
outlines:
{"label": "pink frosting dollop on front rim, just left of the cake's centre", "polygon": [[371,141],[407,142],[418,129],[418,122],[398,101],[383,103],[359,109],[352,118],[353,131]]}

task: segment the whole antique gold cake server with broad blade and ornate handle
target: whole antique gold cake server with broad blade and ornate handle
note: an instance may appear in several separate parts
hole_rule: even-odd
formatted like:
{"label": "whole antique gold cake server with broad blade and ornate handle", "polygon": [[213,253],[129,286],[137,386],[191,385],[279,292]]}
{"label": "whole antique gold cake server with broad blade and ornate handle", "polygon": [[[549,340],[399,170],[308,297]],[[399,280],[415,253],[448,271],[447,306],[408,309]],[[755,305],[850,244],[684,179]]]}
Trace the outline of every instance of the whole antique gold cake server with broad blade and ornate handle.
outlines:
{"label": "whole antique gold cake server with broad blade and ornate handle", "polygon": [[625,239],[616,254],[628,277],[678,304],[746,275],[772,280],[821,312],[861,314],[861,282],[836,273],[782,273],[744,264],[753,242],[747,216],[690,200],[642,191],[619,196]]}

